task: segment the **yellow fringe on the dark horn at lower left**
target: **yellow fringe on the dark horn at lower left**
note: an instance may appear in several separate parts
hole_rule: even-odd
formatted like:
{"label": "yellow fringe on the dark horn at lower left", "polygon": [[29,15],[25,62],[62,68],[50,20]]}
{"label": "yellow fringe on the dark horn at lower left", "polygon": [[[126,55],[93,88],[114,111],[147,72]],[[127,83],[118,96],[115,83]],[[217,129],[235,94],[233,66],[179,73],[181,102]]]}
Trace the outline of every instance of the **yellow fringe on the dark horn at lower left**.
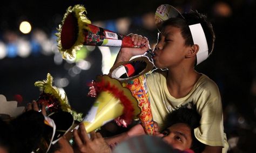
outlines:
{"label": "yellow fringe on the dark horn at lower left", "polygon": [[59,89],[55,86],[52,86],[53,78],[50,73],[47,74],[47,79],[43,81],[36,81],[35,86],[39,87],[40,91],[43,91],[44,93],[51,94],[54,96],[56,99],[58,99],[60,103],[60,107],[64,112],[69,112],[72,114],[74,120],[77,121],[82,121],[83,114],[82,113],[77,113],[74,110],[71,109],[68,98],[66,94],[64,95],[64,98],[62,95],[59,93]]}

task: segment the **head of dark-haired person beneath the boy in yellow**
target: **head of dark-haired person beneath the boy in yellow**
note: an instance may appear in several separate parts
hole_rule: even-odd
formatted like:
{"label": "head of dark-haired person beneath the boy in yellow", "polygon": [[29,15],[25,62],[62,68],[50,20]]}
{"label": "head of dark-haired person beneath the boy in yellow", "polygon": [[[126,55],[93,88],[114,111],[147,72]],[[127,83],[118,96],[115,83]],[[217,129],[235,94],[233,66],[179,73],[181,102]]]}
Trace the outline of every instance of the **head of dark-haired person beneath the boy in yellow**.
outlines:
{"label": "head of dark-haired person beneath the boy in yellow", "polygon": [[167,115],[161,133],[163,140],[179,150],[191,149],[202,152],[205,145],[194,136],[194,129],[200,125],[200,115],[196,109],[181,107]]}

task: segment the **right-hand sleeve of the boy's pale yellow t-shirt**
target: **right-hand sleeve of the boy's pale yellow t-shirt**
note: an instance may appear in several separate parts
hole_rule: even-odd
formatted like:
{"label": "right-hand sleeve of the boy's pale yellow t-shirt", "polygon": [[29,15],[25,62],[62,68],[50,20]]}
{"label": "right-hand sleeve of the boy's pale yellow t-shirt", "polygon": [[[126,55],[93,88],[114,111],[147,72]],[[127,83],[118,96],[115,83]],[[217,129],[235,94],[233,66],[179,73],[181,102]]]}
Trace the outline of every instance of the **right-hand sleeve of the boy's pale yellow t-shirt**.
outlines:
{"label": "right-hand sleeve of the boy's pale yellow t-shirt", "polygon": [[201,143],[224,147],[223,109],[218,87],[204,92],[197,105],[200,126],[194,129],[194,134]]}

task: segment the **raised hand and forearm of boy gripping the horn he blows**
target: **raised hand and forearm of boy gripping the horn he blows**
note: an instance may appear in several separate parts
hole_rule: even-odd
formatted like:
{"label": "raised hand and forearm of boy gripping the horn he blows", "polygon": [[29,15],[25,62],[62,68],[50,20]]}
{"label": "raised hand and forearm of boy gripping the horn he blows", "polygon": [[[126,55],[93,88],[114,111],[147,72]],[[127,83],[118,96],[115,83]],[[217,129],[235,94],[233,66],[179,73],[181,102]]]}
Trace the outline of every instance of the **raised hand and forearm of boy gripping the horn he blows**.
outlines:
{"label": "raised hand and forearm of boy gripping the horn he blows", "polygon": [[141,48],[121,48],[116,61],[114,62],[115,64],[120,62],[120,61],[129,61],[131,57],[134,55],[141,55],[144,54],[147,50],[149,50],[149,41],[147,40],[146,37],[139,36],[138,34],[130,34],[131,40],[134,45],[136,46],[142,46]]}

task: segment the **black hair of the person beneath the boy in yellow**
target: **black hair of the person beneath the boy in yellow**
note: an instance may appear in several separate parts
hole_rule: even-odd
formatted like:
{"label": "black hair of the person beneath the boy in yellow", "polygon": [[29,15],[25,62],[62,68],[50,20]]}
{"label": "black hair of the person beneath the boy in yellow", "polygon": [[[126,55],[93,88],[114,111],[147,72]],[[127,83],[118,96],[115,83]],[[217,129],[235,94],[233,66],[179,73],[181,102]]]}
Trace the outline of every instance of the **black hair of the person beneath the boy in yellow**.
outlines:
{"label": "black hair of the person beneath the boy in yellow", "polygon": [[163,129],[171,127],[173,124],[185,123],[191,130],[192,144],[191,148],[194,152],[202,152],[205,144],[199,142],[194,136],[194,129],[200,126],[201,116],[197,113],[195,106],[188,108],[187,106],[180,107],[174,110],[165,117]]}

